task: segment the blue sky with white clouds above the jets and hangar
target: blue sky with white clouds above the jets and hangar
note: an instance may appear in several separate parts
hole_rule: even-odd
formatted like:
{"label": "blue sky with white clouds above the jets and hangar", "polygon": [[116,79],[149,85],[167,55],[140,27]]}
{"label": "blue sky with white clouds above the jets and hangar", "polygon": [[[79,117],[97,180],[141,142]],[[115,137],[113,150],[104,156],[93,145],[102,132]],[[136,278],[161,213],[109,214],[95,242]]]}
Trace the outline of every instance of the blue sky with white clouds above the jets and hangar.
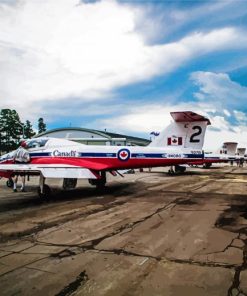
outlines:
{"label": "blue sky with white clouds above the jets and hangar", "polygon": [[0,0],[0,108],[146,138],[192,110],[247,147],[247,1]]}

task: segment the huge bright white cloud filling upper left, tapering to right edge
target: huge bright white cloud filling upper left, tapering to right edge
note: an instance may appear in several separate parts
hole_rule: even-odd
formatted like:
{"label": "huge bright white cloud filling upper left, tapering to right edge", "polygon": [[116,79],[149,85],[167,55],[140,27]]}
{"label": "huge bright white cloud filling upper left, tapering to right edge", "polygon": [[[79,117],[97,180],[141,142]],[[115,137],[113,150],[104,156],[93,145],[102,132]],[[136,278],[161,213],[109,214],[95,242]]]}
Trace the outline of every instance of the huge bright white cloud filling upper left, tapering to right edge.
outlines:
{"label": "huge bright white cloud filling upper left, tapering to right edge", "polygon": [[197,32],[174,43],[148,45],[141,7],[101,1],[0,2],[0,107],[40,110],[39,101],[92,100],[114,88],[169,73],[190,59],[247,46],[245,32]]}

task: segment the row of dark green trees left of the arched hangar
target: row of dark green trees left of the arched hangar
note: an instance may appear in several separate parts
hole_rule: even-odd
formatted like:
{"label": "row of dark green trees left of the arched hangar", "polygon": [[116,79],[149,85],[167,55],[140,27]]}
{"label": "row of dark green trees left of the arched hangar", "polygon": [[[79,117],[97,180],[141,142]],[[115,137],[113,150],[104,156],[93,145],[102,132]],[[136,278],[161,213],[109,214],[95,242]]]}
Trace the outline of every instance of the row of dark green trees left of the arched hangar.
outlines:
{"label": "row of dark green trees left of the arched hangar", "polygon": [[[43,118],[38,119],[38,134],[46,131]],[[30,139],[36,135],[29,120],[21,122],[16,110],[0,110],[0,154],[12,151],[19,146],[21,139]]]}

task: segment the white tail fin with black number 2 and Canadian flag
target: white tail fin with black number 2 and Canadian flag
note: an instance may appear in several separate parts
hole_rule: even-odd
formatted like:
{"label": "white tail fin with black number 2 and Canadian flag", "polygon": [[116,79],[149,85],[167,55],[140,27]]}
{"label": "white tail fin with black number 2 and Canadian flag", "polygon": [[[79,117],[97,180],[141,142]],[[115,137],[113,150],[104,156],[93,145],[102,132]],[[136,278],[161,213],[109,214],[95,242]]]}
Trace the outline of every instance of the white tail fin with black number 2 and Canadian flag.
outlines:
{"label": "white tail fin with black number 2 and Canadian flag", "polygon": [[191,111],[171,112],[174,119],[150,143],[153,147],[172,147],[202,149],[206,128],[210,125],[208,118]]}

